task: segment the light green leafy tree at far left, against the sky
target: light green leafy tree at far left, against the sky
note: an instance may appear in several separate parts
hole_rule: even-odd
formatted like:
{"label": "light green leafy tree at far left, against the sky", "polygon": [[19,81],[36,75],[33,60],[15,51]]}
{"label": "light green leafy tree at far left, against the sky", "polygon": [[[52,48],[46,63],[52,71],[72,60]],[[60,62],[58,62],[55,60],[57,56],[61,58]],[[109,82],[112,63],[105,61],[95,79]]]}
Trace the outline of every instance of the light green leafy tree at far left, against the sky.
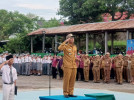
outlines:
{"label": "light green leafy tree at far left, against the sky", "polygon": [[38,17],[30,18],[19,12],[0,10],[0,40],[8,39],[13,33],[28,33],[38,28]]}

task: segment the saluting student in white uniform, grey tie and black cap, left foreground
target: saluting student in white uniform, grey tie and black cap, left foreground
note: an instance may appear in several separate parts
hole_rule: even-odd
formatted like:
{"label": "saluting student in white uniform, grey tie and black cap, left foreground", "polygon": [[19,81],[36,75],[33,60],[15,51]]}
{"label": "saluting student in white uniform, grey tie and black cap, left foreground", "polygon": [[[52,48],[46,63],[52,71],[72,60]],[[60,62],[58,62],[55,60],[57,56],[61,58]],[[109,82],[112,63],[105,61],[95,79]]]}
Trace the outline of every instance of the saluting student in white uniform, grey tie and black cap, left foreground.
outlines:
{"label": "saluting student in white uniform, grey tie and black cap, left foreground", "polygon": [[13,67],[13,56],[6,56],[5,62],[0,65],[3,82],[3,100],[14,100],[14,90],[17,80],[17,72]]}

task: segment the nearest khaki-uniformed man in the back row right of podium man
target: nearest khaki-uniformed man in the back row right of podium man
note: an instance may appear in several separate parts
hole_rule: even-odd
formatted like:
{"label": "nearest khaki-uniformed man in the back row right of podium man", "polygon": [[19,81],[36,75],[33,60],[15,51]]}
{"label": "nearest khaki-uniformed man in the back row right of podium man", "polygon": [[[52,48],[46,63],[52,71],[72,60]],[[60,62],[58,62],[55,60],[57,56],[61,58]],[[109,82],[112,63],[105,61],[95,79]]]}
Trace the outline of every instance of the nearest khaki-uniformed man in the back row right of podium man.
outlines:
{"label": "nearest khaki-uniformed man in the back row right of podium man", "polygon": [[90,60],[88,58],[88,54],[86,54],[85,58],[84,58],[84,79],[85,79],[85,82],[89,81],[89,65],[90,65]]}

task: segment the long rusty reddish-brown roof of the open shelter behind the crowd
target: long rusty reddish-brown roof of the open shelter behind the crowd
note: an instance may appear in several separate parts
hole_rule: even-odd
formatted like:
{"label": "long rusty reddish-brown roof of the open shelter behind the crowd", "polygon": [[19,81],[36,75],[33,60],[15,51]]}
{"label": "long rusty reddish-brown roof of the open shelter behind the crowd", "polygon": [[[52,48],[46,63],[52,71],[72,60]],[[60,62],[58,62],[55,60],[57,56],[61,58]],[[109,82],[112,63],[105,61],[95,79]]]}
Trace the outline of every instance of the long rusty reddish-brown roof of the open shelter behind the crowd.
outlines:
{"label": "long rusty reddish-brown roof of the open shelter behind the crowd", "polygon": [[67,33],[79,33],[79,32],[96,32],[96,31],[113,31],[113,30],[127,30],[134,29],[134,20],[120,20],[111,22],[99,22],[99,23],[87,23],[77,24],[70,26],[59,26],[53,28],[41,28],[29,33],[28,35],[40,35],[45,31],[46,35],[53,34],[67,34]]}

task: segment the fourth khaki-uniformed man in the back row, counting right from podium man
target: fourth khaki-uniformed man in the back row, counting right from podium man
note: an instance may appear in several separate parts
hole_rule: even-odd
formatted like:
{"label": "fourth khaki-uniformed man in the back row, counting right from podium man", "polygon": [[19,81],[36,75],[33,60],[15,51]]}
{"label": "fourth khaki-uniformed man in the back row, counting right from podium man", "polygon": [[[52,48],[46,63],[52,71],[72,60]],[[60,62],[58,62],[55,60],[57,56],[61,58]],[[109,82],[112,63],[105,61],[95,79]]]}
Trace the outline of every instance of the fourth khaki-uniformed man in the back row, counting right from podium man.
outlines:
{"label": "fourth khaki-uniformed man in the back row, counting right from podium man", "polygon": [[117,83],[122,84],[122,71],[123,70],[123,59],[122,54],[118,55],[118,59],[116,60],[116,75],[117,75]]}

